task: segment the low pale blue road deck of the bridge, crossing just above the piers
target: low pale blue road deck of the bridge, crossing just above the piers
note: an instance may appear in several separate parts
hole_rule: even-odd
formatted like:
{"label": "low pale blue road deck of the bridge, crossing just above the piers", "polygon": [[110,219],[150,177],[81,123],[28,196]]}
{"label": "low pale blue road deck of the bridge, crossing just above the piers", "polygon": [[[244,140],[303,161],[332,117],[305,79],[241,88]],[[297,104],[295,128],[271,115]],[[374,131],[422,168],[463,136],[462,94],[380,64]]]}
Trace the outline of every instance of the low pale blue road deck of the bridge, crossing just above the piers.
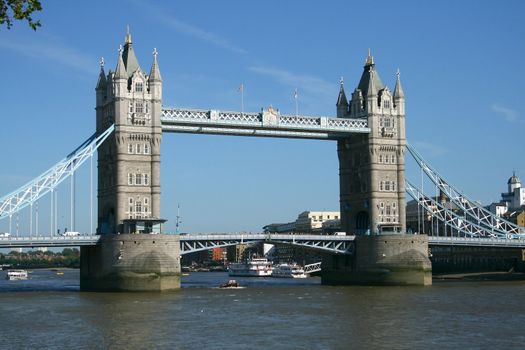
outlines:
{"label": "low pale blue road deck of the bridge, crossing just above the piers", "polygon": [[[96,245],[100,235],[83,236],[20,236],[0,237],[0,248],[37,247],[79,247]],[[306,247],[332,254],[352,254],[355,236],[312,235],[312,234],[181,234],[181,254],[237,244],[256,242],[283,243]],[[428,237],[430,246],[500,247],[525,248],[525,239],[468,238],[468,237]]]}

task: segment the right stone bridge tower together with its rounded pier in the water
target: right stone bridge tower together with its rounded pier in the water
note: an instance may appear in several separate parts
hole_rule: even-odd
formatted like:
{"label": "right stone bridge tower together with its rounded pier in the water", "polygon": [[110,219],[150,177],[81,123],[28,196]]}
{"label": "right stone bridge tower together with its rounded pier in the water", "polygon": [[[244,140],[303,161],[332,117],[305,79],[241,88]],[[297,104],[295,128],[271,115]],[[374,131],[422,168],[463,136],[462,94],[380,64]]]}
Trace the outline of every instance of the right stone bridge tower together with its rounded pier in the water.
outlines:
{"label": "right stone bridge tower together with its rounded pier in the water", "polygon": [[341,81],[337,116],[366,118],[370,133],[337,143],[341,228],[356,238],[351,257],[323,259],[322,282],[431,284],[428,239],[405,232],[405,96],[399,72],[392,93],[369,53],[350,102]]}

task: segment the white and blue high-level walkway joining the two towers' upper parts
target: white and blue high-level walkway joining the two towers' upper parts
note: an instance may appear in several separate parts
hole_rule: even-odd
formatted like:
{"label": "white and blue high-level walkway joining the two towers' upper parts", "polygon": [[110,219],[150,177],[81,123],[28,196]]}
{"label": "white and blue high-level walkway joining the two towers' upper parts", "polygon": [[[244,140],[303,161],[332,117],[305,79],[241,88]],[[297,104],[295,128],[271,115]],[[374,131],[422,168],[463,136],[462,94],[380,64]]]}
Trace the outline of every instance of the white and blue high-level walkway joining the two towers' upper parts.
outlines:
{"label": "white and blue high-level walkway joining the two towers' upper parts", "polygon": [[369,133],[367,119],[242,113],[201,109],[163,109],[162,130],[201,134],[287,137],[335,140],[353,133]]}

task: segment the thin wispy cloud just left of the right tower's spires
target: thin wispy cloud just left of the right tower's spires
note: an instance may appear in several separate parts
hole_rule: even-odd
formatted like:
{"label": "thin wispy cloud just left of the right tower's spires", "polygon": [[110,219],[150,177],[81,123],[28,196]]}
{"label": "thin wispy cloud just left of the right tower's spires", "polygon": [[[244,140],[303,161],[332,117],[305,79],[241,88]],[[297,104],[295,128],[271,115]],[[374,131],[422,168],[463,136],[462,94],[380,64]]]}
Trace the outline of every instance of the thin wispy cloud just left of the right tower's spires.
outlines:
{"label": "thin wispy cloud just left of the right tower's spires", "polygon": [[270,76],[281,84],[316,95],[322,94],[331,96],[335,86],[326,80],[311,75],[295,74],[279,68],[252,66],[249,70],[258,74]]}

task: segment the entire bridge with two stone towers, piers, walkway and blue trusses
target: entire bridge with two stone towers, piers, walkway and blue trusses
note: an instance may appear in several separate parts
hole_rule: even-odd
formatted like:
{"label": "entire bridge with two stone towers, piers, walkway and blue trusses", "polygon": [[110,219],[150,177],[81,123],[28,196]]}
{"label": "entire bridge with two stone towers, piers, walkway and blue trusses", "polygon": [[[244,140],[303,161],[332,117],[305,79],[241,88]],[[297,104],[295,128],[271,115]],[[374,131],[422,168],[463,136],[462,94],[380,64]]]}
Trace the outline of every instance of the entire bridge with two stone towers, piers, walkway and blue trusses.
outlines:
{"label": "entire bridge with two stone towers, piers, walkway and blue trusses", "polygon": [[[48,193],[53,198],[56,186],[98,152],[96,234],[0,238],[0,247],[78,245],[82,289],[163,290],[180,286],[181,254],[247,241],[302,245],[329,253],[322,278],[330,284],[430,284],[429,243],[524,246],[523,228],[466,198],[407,148],[399,71],[391,91],[370,53],[350,100],[340,82],[335,117],[281,115],[271,106],[259,113],[163,108],[162,84],[157,51],[146,73],[128,33],[115,70],[106,73],[101,61],[95,134],[37,179],[0,199],[0,219],[11,220],[24,207],[30,208],[32,218],[33,204]],[[346,236],[163,234],[161,142],[164,133],[173,132],[337,142],[341,226]],[[460,208],[459,214],[405,180],[406,154]],[[448,227],[450,237],[406,234],[406,193]],[[51,205],[56,206],[53,199]]]}

